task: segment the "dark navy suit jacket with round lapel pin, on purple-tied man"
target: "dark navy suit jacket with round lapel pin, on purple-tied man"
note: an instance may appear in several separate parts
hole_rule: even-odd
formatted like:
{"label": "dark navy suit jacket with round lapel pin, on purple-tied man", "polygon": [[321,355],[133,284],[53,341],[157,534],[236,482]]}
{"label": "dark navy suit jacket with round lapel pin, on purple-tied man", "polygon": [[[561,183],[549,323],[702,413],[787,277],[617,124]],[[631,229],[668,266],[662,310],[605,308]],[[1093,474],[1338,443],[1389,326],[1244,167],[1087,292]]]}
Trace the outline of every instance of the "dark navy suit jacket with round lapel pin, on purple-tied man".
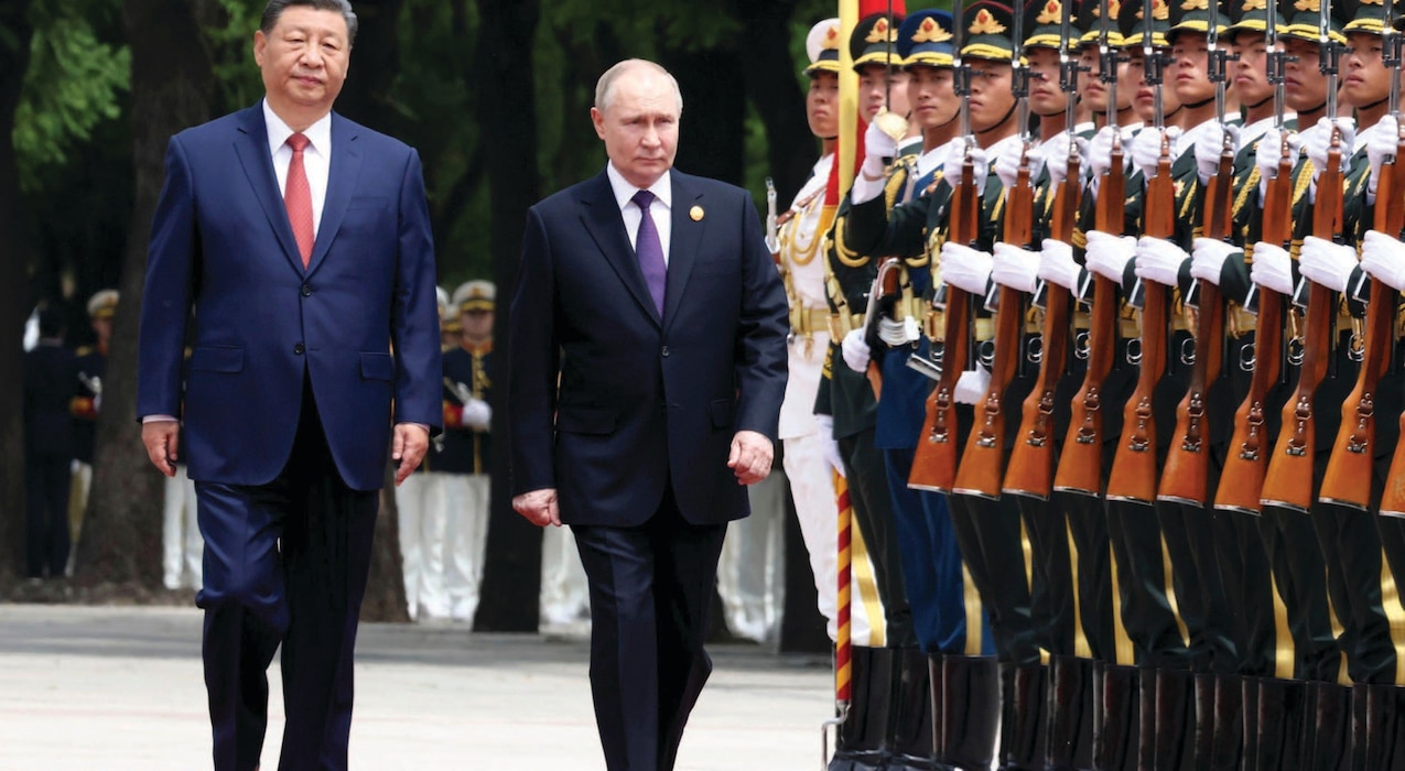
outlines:
{"label": "dark navy suit jacket with round lapel pin, on purple-tied man", "polygon": [[688,522],[745,517],[732,437],[776,441],[787,306],[756,206],[677,170],[672,184],[662,319],[604,173],[527,212],[509,322],[513,494],[555,487],[566,524],[638,525],[666,482]]}

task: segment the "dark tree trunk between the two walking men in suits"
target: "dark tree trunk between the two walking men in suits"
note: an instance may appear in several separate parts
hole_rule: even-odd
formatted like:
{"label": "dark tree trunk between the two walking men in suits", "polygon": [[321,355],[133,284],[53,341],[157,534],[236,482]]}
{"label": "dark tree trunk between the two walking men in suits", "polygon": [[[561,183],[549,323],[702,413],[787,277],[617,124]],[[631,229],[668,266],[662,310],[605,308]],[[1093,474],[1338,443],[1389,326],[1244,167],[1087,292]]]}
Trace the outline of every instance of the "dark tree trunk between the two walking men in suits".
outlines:
{"label": "dark tree trunk between the two walking men in suits", "polygon": [[[492,190],[493,279],[499,308],[517,284],[524,212],[537,202],[537,125],[532,86],[532,41],[541,10],[537,0],[478,0],[479,56],[476,72],[468,73],[479,88],[478,104],[485,111],[483,142],[488,152],[488,180]],[[506,313],[503,315],[506,317]],[[493,406],[492,503],[488,517],[488,549],[479,591],[475,629],[493,632],[535,632],[541,600],[541,529],[518,517],[509,487],[507,413],[503,396],[507,324],[499,324],[493,340],[490,392]]]}

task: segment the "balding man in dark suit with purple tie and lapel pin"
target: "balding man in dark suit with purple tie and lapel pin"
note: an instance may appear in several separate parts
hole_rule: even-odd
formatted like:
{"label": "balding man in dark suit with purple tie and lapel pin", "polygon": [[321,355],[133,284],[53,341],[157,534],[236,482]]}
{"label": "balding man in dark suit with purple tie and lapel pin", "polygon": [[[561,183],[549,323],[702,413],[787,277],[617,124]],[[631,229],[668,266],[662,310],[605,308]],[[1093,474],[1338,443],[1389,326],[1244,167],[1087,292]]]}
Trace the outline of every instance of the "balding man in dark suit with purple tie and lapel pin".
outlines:
{"label": "balding man in dark suit with purple tie and lapel pin", "polygon": [[652,62],[601,76],[610,163],[528,211],[510,316],[513,507],[576,536],[611,771],[673,768],[711,671],[722,535],[770,472],[785,390],[754,204],[672,170],[681,111]]}

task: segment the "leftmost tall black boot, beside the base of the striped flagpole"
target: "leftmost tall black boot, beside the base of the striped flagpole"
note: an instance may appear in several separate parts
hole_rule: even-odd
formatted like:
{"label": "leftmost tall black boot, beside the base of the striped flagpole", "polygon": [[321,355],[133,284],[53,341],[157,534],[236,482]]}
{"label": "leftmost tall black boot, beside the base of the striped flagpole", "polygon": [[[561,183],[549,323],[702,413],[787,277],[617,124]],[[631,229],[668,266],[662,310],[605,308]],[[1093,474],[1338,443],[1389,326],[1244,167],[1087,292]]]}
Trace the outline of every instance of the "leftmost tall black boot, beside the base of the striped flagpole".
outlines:
{"label": "leftmost tall black boot, beside the base of the striped flagpole", "polygon": [[850,649],[849,716],[839,726],[830,771],[874,771],[887,761],[892,650]]}

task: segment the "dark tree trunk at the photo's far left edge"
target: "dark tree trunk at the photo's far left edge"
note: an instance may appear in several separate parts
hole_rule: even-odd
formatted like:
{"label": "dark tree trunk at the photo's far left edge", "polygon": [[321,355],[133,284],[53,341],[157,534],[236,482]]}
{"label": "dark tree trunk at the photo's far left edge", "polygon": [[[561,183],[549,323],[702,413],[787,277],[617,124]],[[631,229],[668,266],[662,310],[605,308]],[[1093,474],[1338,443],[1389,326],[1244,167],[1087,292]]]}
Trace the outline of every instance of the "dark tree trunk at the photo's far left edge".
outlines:
{"label": "dark tree trunk at the photo's far left edge", "polygon": [[[24,265],[28,263],[20,174],[15,169],[14,112],[30,69],[30,3],[0,6],[0,584],[24,565],[24,319],[30,315]],[[10,45],[4,45],[8,42]]]}

